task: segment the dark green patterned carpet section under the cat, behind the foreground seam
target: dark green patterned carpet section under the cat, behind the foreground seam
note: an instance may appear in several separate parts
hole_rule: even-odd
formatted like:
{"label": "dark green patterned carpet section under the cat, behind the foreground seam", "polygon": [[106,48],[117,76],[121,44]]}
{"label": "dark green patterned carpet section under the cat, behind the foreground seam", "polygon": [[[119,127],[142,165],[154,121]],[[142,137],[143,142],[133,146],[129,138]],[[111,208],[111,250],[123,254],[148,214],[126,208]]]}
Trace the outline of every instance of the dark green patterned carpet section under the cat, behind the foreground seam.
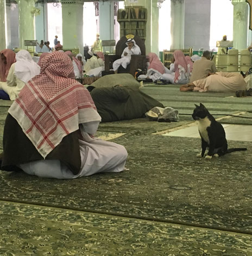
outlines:
{"label": "dark green patterned carpet section under the cat, behind the foreground seam", "polygon": [[205,160],[196,138],[114,141],[127,148],[130,170],[75,180],[1,172],[0,199],[252,234],[251,150]]}

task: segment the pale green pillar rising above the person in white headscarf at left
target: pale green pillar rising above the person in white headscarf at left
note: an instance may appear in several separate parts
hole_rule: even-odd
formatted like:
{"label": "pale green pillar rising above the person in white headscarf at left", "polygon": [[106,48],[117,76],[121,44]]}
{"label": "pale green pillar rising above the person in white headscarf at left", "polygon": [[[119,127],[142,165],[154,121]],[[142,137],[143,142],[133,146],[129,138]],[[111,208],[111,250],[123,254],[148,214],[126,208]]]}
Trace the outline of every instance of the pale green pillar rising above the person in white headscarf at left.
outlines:
{"label": "pale green pillar rising above the person in white headscarf at left", "polygon": [[19,47],[22,49],[27,49],[24,40],[35,40],[34,11],[34,0],[18,0]]}

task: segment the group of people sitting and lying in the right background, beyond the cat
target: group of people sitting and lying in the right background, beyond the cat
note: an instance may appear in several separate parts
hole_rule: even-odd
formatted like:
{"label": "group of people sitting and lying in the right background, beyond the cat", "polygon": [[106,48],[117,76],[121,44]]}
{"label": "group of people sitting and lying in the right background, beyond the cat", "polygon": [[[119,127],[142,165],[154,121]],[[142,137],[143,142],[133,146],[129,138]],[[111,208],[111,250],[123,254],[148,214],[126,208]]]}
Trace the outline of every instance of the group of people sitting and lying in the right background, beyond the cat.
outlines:
{"label": "group of people sitting and lying in the right background, beyond the cat", "polygon": [[210,58],[210,51],[205,51],[201,58],[190,58],[176,50],[170,69],[167,69],[155,53],[149,53],[147,73],[139,75],[138,79],[150,78],[153,81],[182,84],[181,92],[237,92],[249,89],[248,78],[244,79],[238,72],[217,72],[215,63]]}

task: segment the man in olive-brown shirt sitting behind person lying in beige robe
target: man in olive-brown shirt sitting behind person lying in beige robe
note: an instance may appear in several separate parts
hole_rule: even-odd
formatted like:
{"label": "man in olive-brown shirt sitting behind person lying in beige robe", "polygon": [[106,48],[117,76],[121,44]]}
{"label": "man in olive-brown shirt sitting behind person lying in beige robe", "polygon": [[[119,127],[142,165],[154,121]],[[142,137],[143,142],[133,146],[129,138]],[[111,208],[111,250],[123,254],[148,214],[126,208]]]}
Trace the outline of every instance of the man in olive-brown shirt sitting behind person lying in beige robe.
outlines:
{"label": "man in olive-brown shirt sitting behind person lying in beige robe", "polygon": [[211,52],[205,51],[203,52],[203,57],[193,63],[190,83],[199,79],[206,78],[210,73],[217,72],[215,63],[210,60],[210,58]]}

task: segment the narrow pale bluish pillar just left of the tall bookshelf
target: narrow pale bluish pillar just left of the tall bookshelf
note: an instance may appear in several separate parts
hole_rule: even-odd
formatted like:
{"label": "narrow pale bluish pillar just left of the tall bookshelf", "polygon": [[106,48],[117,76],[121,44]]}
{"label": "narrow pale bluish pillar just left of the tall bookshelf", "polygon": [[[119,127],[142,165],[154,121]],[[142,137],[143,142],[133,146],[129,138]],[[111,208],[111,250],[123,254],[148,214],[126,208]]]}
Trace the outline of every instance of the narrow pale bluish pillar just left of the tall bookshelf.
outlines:
{"label": "narrow pale bluish pillar just left of the tall bookshelf", "polygon": [[114,1],[99,2],[99,34],[102,40],[114,39]]}

